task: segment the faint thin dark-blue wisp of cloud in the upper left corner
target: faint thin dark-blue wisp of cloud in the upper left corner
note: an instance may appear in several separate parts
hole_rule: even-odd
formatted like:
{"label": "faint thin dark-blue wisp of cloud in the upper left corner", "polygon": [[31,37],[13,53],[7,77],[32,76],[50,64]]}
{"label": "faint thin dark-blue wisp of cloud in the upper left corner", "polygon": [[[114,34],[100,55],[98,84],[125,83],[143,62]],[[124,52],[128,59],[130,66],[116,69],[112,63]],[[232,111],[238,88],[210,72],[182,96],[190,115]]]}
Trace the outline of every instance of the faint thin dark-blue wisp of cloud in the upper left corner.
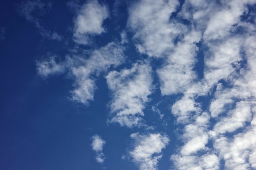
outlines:
{"label": "faint thin dark-blue wisp of cloud in the upper left corner", "polygon": [[26,0],[21,2],[18,6],[20,15],[24,16],[28,22],[34,23],[37,29],[39,29],[41,36],[46,39],[61,41],[61,35],[55,31],[52,32],[45,29],[41,23],[40,17],[49,9],[51,9],[51,3],[44,3],[41,0]]}

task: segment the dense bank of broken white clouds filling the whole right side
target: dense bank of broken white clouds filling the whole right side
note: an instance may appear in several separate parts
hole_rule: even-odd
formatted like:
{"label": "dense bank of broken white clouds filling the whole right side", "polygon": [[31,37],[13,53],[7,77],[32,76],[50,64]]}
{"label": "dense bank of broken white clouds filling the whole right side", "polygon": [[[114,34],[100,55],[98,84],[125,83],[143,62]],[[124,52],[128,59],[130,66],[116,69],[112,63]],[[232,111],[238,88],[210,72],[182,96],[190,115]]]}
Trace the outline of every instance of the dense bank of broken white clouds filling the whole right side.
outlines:
{"label": "dense bank of broken white clouds filling the whole right side", "polygon": [[[132,4],[128,26],[139,52],[166,56],[157,69],[162,95],[183,94],[172,105],[176,122],[184,125],[183,145],[171,157],[175,168],[219,169],[221,159],[226,169],[254,168],[255,146],[245,141],[254,131],[255,23],[243,17],[254,15],[248,7],[255,1],[186,0],[176,18],[172,12],[178,4],[168,3]],[[195,68],[199,48],[204,50],[202,78]],[[202,108],[199,96],[210,101],[209,109]],[[206,147],[209,141],[213,148]]]}

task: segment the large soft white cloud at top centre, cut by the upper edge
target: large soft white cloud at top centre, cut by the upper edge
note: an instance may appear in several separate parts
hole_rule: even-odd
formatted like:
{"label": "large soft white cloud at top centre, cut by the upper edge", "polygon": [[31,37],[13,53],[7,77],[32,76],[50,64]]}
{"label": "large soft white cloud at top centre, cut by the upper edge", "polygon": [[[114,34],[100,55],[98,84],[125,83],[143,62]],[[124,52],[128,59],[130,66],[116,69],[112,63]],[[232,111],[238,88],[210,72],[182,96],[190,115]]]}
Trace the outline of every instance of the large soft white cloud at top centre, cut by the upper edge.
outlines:
{"label": "large soft white cloud at top centre, cut by the upper edge", "polygon": [[162,57],[174,47],[173,42],[186,27],[169,18],[179,5],[178,0],[141,0],[129,7],[128,27],[135,35],[138,51],[148,56]]}

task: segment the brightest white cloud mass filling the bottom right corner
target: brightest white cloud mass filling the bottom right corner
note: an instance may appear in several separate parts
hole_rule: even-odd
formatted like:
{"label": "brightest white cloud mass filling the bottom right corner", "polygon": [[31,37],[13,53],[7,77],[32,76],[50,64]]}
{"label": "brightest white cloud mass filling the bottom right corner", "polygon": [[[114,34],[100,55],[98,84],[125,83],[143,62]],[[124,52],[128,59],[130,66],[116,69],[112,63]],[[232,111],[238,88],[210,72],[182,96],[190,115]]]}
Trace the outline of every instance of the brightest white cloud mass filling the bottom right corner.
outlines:
{"label": "brightest white cloud mass filling the bottom right corner", "polygon": [[226,170],[249,170],[256,168],[256,126],[254,118],[251,126],[244,132],[236,134],[233,139],[224,136],[217,136],[214,147],[219,152],[220,157],[225,160]]}

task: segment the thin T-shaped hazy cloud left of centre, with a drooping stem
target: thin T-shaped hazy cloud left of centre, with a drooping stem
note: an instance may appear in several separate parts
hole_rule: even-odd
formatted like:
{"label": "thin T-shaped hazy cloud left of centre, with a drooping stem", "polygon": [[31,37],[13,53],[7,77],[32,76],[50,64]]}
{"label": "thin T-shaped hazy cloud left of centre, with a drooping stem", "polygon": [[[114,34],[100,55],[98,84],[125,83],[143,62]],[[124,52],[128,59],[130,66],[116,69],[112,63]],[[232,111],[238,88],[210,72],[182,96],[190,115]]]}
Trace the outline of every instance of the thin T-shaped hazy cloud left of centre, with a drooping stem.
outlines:
{"label": "thin T-shaped hazy cloud left of centre, with a drooping stem", "polygon": [[58,75],[68,72],[74,79],[74,90],[71,91],[71,100],[84,105],[94,99],[94,91],[97,89],[95,79],[111,67],[115,68],[125,60],[123,47],[111,42],[92,52],[67,56],[63,61],[56,61],[55,57],[37,61],[37,72],[43,78],[49,75]]}

